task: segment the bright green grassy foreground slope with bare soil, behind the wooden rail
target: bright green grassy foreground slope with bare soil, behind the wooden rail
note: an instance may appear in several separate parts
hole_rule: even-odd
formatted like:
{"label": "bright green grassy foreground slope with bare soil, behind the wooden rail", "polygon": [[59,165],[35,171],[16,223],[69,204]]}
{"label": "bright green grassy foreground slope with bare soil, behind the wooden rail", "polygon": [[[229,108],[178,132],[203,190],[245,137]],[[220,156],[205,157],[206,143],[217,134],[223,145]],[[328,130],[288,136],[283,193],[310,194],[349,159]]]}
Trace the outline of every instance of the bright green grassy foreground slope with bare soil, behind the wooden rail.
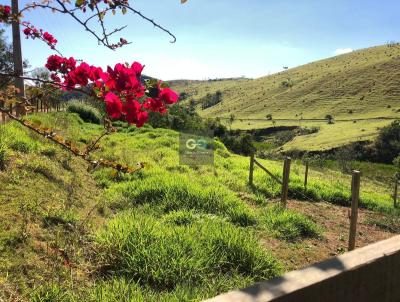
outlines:
{"label": "bright green grassy foreground slope with bare soil, behind the wooden rail", "polygon": [[[102,132],[75,114],[30,119],[78,145]],[[290,196],[304,201],[282,210],[279,185],[256,169],[249,187],[248,158],[219,142],[215,166],[179,165],[178,135],[122,125],[105,137],[94,157],[145,163],[126,175],[0,127],[0,300],[198,301],[344,251],[348,176],[311,169],[304,191],[294,163]],[[385,184],[364,179],[361,204],[359,246],[398,232]]]}

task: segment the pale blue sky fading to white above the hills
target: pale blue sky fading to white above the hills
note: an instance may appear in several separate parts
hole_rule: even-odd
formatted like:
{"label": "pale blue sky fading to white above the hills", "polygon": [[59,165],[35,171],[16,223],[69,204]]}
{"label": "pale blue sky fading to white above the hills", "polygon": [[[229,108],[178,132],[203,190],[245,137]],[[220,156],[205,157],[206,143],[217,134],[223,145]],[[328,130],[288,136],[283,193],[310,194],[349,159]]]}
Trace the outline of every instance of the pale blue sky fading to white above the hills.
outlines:
{"label": "pale blue sky fading to white above the hills", "polygon": [[[0,0],[1,4],[9,1]],[[20,0],[20,5],[27,3]],[[115,37],[133,44],[117,51],[98,46],[67,16],[37,10],[26,17],[59,40],[66,56],[105,67],[139,61],[164,80],[260,77],[352,49],[400,41],[398,0],[136,0],[131,3],[170,29],[170,38],[135,15],[106,18]],[[23,40],[23,56],[43,66],[51,51]]]}

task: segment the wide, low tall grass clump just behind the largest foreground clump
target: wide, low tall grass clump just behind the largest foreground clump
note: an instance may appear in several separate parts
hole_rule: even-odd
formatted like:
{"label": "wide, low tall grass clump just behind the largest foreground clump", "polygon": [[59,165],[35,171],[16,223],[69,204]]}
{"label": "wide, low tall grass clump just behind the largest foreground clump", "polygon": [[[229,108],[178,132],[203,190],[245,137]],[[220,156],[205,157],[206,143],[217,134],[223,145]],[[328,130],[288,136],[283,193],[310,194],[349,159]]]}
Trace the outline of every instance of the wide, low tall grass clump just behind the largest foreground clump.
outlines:
{"label": "wide, low tall grass clump just behind the largest foreground clump", "polygon": [[115,185],[114,203],[128,205],[149,203],[168,213],[176,210],[195,210],[228,217],[242,226],[254,225],[256,217],[232,191],[223,186],[201,186],[182,175],[152,175],[148,178]]}

